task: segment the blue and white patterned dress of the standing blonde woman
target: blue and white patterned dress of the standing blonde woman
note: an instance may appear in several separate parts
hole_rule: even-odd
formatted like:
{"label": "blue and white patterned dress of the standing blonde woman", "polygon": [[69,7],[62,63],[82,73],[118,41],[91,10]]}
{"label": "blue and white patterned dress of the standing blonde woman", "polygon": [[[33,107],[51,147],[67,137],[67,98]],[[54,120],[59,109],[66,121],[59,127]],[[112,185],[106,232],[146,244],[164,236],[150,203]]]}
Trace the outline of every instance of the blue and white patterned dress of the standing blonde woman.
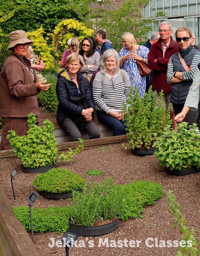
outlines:
{"label": "blue and white patterned dress of the standing blonde woman", "polygon": [[[119,59],[121,59],[123,56],[125,56],[129,52],[130,52],[130,50],[123,47],[120,50]],[[137,54],[137,49],[135,50],[134,53]],[[146,64],[148,64],[148,59],[147,59],[148,53],[149,53],[149,49],[146,48],[145,46],[141,45],[140,49],[138,51],[138,55],[140,57],[146,59]],[[128,75],[130,77],[131,84],[133,85],[134,91],[135,91],[135,85],[137,85],[137,87],[139,89],[140,97],[143,98],[145,95],[145,89],[146,89],[146,76],[141,77],[136,60],[135,59],[128,59],[128,60],[126,59],[122,65],[121,69],[124,69],[128,73]]]}

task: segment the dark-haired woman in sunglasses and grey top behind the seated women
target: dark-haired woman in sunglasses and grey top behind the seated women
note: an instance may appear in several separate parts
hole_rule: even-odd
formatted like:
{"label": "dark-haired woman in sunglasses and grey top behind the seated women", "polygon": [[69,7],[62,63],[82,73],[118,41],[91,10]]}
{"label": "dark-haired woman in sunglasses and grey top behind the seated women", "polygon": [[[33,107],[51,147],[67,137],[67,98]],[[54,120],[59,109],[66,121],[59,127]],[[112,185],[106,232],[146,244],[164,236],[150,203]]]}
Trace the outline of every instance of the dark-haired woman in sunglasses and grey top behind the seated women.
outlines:
{"label": "dark-haired woman in sunglasses and grey top behind the seated women", "polygon": [[90,37],[85,37],[80,46],[79,54],[82,56],[84,66],[81,69],[83,76],[91,79],[93,73],[99,68],[100,55],[93,50],[93,41]]}

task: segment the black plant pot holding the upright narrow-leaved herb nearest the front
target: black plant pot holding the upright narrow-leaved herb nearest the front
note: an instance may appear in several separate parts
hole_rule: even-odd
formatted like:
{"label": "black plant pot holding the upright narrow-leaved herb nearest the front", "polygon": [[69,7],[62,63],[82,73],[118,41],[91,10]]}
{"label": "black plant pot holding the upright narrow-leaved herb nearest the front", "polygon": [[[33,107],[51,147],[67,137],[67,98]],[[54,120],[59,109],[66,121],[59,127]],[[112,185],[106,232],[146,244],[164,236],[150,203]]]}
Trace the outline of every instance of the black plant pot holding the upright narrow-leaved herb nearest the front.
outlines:
{"label": "black plant pot holding the upright narrow-leaved herb nearest the front", "polygon": [[101,236],[110,233],[119,227],[119,216],[114,221],[99,226],[79,226],[72,223],[72,217],[69,218],[69,227],[81,231],[81,236]]}

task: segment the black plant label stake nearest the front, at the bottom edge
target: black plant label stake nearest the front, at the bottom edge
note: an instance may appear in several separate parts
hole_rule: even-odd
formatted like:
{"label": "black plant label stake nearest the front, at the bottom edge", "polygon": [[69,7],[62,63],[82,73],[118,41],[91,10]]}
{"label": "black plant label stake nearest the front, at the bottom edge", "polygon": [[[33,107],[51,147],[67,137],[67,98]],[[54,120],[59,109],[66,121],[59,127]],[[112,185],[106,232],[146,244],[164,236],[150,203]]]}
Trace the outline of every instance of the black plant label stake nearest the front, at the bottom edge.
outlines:
{"label": "black plant label stake nearest the front, at the bottom edge", "polygon": [[67,230],[65,231],[65,234],[63,235],[61,241],[65,247],[66,256],[69,256],[69,247],[73,247],[75,245],[76,240],[78,239],[80,234],[81,231],[77,231],[71,228],[67,228]]}

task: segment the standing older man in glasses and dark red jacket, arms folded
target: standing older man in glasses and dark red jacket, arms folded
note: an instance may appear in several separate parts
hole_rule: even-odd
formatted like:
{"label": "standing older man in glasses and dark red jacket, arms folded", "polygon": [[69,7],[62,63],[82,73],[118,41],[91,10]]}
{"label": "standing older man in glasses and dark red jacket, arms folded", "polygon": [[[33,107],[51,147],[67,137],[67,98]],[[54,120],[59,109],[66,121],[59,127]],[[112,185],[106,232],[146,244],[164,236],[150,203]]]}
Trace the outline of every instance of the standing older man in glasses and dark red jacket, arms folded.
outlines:
{"label": "standing older man in glasses and dark red jacket, arms folded", "polygon": [[159,30],[160,38],[155,42],[148,54],[148,68],[152,69],[152,90],[157,94],[163,90],[163,104],[165,110],[170,106],[170,115],[172,119],[172,127],[177,128],[172,104],[170,104],[171,83],[167,83],[167,65],[172,54],[178,52],[178,44],[172,39],[172,26],[164,21],[160,24]]}

